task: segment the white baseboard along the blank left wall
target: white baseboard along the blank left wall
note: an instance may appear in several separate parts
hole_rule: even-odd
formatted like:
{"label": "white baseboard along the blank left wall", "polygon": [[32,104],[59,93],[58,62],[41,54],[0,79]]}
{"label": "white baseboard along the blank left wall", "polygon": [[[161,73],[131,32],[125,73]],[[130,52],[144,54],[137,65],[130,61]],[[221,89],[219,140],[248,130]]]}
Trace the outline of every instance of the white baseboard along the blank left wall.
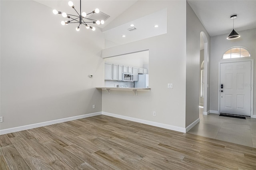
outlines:
{"label": "white baseboard along the blank left wall", "polygon": [[86,117],[92,117],[92,116],[98,116],[98,115],[102,115],[102,112],[89,113],[89,114],[79,115],[79,116],[74,116],[74,117],[67,117],[67,118],[63,118],[63,119],[57,119],[57,120],[47,121],[47,122],[42,122],[42,123],[35,123],[35,124],[25,125],[25,126],[21,126],[21,127],[6,128],[6,129],[0,130],[0,135],[1,134],[12,133],[12,132],[18,132],[18,131],[21,131],[21,130],[28,130],[28,129],[31,129],[31,128],[44,127],[44,126],[53,125],[53,124],[56,124],[56,123],[74,121],[76,119],[83,119],[83,118],[86,118]]}

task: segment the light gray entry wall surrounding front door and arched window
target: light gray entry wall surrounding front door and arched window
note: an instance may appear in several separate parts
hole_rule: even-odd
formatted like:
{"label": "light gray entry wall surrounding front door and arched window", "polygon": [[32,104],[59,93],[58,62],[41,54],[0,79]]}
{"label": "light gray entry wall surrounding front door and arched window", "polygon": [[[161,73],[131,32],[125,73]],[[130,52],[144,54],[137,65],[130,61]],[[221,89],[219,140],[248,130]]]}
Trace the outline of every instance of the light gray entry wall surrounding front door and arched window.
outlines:
{"label": "light gray entry wall surrounding front door and arched window", "polygon": [[[231,30],[230,30],[231,32]],[[256,29],[240,31],[241,36],[238,39],[227,40],[228,34],[211,37],[211,66],[210,66],[210,110],[218,111],[218,63],[220,61],[228,61],[228,59],[221,59],[223,53],[230,47],[242,46],[246,47],[251,57],[243,59],[256,58]],[[233,61],[236,59],[229,59]],[[256,61],[254,61],[254,83],[256,82]],[[256,89],[254,87],[254,115],[256,115]]]}

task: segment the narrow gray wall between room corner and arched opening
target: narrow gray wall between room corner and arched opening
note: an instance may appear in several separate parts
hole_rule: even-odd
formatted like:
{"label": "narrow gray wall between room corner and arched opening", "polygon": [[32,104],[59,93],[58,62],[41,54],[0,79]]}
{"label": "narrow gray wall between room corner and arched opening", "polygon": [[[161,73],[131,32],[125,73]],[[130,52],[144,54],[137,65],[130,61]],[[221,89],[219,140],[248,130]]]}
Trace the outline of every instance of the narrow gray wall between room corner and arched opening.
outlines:
{"label": "narrow gray wall between room corner and arched opening", "polygon": [[[199,119],[200,91],[200,32],[210,36],[204,26],[186,3],[186,127]],[[210,49],[210,48],[208,48]],[[205,61],[209,63],[210,61]],[[207,80],[207,77],[205,77]],[[206,81],[207,82],[207,81]]]}

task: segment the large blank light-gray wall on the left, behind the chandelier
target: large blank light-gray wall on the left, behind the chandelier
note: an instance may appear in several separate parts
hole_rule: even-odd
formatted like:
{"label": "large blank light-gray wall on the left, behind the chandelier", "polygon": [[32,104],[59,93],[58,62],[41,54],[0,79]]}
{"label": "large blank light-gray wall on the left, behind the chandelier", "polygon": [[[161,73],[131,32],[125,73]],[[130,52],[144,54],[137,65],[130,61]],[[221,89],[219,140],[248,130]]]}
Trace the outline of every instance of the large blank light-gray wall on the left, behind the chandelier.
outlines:
{"label": "large blank light-gray wall on the left, behind the chandelier", "polygon": [[62,16],[32,0],[0,3],[0,129],[102,111],[100,30],[62,26]]}

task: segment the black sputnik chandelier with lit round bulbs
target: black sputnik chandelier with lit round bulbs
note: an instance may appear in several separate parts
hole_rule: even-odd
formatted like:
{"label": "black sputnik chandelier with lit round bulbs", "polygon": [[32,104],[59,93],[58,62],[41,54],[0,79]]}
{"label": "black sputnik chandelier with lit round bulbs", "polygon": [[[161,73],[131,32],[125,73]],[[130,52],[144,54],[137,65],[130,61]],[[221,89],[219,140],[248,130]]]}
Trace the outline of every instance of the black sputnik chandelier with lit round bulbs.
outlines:
{"label": "black sputnik chandelier with lit round bulbs", "polygon": [[[89,13],[89,14],[86,14],[86,12],[82,12],[82,13],[81,13],[81,0],[80,0],[80,14],[79,14],[79,13],[77,12],[77,10],[75,9],[74,4],[73,4],[72,1],[69,1],[69,2],[68,2],[68,5],[69,5],[70,7],[72,7],[72,8],[76,11],[76,13],[77,13],[78,15],[66,14],[66,12],[59,12],[59,11],[57,11],[57,10],[53,10],[53,11],[52,11],[54,14],[62,14],[62,16],[63,16],[64,18],[68,18],[68,19],[69,19],[68,21],[62,21],[62,22],[61,22],[61,24],[62,24],[63,26],[64,26],[64,25],[68,25],[68,24],[78,23],[79,25],[78,25],[78,27],[76,27],[76,31],[79,31],[79,30],[80,30],[80,25],[82,25],[82,24],[85,25],[87,29],[90,28],[90,29],[92,29],[92,31],[94,31],[94,30],[95,30],[95,27],[89,26],[88,23],[98,24],[98,25],[104,24],[104,20],[101,20],[101,21],[100,21],[100,20],[93,20],[93,19],[90,19],[90,18],[86,18],[86,16],[89,15],[89,14],[92,14],[92,13],[99,13],[100,10],[99,10],[98,8],[96,8],[94,11],[92,11],[92,12]],[[89,20],[89,22],[84,21],[84,19]]]}

